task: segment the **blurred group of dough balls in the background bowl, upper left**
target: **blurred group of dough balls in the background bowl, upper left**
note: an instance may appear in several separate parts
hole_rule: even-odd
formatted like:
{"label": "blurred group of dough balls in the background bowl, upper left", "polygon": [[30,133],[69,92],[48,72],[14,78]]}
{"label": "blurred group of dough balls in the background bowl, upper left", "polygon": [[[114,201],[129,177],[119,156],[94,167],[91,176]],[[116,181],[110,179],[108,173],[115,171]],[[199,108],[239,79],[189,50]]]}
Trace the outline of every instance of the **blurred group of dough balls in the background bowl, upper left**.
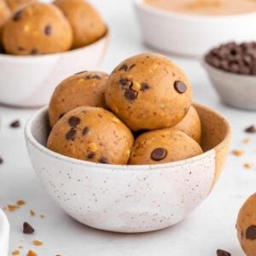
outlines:
{"label": "blurred group of dough balls in the background bowl, upper left", "polygon": [[85,0],[0,0],[2,53],[64,52],[92,44],[106,32],[101,16]]}

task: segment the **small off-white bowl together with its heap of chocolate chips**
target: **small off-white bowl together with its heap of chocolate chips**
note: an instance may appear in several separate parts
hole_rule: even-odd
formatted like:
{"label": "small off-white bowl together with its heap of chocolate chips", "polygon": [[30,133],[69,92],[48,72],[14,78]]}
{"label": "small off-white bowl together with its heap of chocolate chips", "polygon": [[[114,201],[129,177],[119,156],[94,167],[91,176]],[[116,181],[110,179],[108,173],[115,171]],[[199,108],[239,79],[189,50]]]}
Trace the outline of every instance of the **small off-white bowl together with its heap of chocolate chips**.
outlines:
{"label": "small off-white bowl together with its heap of chocolate chips", "polygon": [[256,110],[256,43],[227,43],[211,49],[203,66],[222,102]]}

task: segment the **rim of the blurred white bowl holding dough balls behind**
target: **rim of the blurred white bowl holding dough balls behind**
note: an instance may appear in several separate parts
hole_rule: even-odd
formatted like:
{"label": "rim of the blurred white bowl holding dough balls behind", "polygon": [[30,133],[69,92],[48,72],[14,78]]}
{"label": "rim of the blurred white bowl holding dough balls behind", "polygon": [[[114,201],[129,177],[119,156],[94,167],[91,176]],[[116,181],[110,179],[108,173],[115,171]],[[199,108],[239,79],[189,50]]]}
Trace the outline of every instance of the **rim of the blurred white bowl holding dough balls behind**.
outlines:
{"label": "rim of the blurred white bowl holding dough balls behind", "polygon": [[83,51],[85,49],[90,49],[91,47],[94,47],[96,44],[101,44],[102,42],[108,40],[109,38],[109,27],[106,24],[106,32],[102,35],[101,38],[98,38],[95,42],[85,45],[83,47],[79,47],[77,49],[68,49],[64,52],[57,52],[57,53],[51,53],[51,54],[44,54],[44,55],[9,55],[9,54],[3,54],[0,53],[0,61],[38,61],[47,59],[50,57],[61,57],[66,55],[72,55],[73,53],[77,53],[79,51]]}

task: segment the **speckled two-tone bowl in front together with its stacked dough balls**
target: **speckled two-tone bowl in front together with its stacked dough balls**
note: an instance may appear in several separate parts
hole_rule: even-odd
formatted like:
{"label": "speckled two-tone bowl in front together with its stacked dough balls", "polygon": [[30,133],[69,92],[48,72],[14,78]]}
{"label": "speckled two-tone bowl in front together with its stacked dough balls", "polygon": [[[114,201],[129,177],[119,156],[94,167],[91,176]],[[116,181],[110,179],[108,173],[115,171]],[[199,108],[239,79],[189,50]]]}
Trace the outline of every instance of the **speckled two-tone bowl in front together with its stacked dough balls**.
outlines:
{"label": "speckled two-tone bowl in front together with its stacked dough balls", "polygon": [[176,224],[210,194],[230,144],[228,122],[192,95],[163,55],[75,74],[26,124],[32,166],[83,224],[125,233]]}

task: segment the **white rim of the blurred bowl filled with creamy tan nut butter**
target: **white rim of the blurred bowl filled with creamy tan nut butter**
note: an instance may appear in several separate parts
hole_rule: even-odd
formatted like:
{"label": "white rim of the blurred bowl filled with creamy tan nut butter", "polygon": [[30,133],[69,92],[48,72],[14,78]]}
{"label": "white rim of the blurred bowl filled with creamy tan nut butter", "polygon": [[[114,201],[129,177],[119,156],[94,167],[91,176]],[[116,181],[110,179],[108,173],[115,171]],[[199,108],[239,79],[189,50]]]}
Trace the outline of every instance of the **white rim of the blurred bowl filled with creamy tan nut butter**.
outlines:
{"label": "white rim of the blurred bowl filled with creamy tan nut butter", "polygon": [[[236,15],[190,15],[185,13],[178,13],[172,10],[160,9],[154,6],[151,6],[147,3],[144,3],[144,0],[133,0],[133,3],[140,9],[144,9],[151,15],[162,15],[166,18],[174,18],[178,20],[198,20],[198,21],[217,21],[218,20],[237,20],[237,19],[245,19],[248,17],[255,17],[256,19],[256,11],[244,13],[244,14],[236,14]],[[218,17],[218,19],[216,19]]]}

